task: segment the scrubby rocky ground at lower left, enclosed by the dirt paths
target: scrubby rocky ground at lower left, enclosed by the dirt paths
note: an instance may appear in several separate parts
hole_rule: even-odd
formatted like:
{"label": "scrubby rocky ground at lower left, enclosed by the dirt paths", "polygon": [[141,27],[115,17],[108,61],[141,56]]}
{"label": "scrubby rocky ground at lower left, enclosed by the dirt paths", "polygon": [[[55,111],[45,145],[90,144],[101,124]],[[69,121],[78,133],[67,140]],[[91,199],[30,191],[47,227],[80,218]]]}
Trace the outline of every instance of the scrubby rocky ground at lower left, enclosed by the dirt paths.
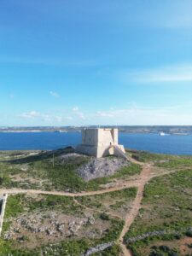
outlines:
{"label": "scrubby rocky ground at lower left, enclosed by the dirt paths", "polygon": [[[98,211],[96,204],[98,200],[102,203],[106,198],[112,198],[113,203],[121,200],[126,205],[127,201],[131,201],[134,198],[136,191],[137,189],[130,188],[107,193],[100,198],[97,195],[92,195],[77,196],[75,199],[69,196],[57,195],[9,195],[3,222],[3,236],[0,240],[1,255],[8,256],[10,253],[14,256],[80,255],[90,247],[109,241],[114,242],[113,247],[109,247],[102,254],[96,253],[95,255],[118,255],[120,247],[115,241],[118,240],[119,234],[123,229],[124,220],[113,216],[113,213],[103,212],[102,209]],[[87,203],[87,201],[91,201],[91,204]],[[61,221],[61,216],[63,216],[63,222],[68,221],[64,225],[69,230],[70,223],[79,222],[80,224],[87,216],[91,216],[94,221],[82,224],[78,232],[71,232],[70,236],[65,233],[60,236],[58,232],[57,235],[53,233],[53,235],[49,234],[48,236],[46,230],[35,231],[39,216],[39,219],[41,219],[40,224],[42,226],[46,224],[48,230],[52,229],[53,224],[58,225],[58,221],[53,222],[56,214],[59,217],[55,219]],[[98,230],[99,227],[101,227],[101,230]],[[92,237],[93,231],[98,233],[97,236],[94,235],[94,238]],[[90,236],[88,235],[89,232]],[[34,247],[33,245],[31,247],[34,237],[37,239],[36,241],[40,240],[41,246]],[[50,241],[52,241],[51,244]]]}

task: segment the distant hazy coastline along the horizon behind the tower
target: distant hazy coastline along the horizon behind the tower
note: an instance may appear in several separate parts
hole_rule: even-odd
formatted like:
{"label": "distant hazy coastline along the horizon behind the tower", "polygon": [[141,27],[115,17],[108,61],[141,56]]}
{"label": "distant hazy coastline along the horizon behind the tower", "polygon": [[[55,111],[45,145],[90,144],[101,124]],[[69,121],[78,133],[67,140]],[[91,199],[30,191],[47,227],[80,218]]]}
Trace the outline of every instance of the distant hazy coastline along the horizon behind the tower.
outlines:
{"label": "distant hazy coastline along the horizon behind the tower", "polygon": [[[84,128],[96,128],[98,125],[90,126],[1,126],[0,132],[73,132],[81,131]],[[106,125],[99,125],[101,128],[107,127]],[[114,127],[114,125],[108,125]],[[115,125],[120,132],[127,133],[160,133],[187,135],[192,133],[192,125]]]}

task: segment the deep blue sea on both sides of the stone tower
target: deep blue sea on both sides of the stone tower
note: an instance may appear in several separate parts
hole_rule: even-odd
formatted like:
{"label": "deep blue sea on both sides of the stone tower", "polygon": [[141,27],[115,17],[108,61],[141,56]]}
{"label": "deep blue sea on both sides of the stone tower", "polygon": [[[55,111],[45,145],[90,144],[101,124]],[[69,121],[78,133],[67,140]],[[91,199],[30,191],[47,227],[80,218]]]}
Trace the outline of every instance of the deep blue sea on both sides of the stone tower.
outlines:
{"label": "deep blue sea on both sides of the stone tower", "polygon": [[[0,150],[56,149],[75,147],[81,142],[79,132],[0,132]],[[164,154],[192,155],[192,135],[119,133],[125,148]]]}

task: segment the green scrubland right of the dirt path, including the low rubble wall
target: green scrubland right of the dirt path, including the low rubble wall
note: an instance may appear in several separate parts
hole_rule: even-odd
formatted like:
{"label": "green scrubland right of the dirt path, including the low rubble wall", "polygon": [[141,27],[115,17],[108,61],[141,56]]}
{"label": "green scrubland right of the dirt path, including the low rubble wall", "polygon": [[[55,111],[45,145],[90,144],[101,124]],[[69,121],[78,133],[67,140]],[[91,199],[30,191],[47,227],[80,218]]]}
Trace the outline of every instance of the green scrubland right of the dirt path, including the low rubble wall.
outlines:
{"label": "green scrubland right of the dirt path, including the low rubble wall", "polygon": [[[192,230],[192,171],[154,177],[145,187],[140,212],[125,236],[133,255],[191,255],[181,248]],[[180,241],[180,242],[179,242]]]}

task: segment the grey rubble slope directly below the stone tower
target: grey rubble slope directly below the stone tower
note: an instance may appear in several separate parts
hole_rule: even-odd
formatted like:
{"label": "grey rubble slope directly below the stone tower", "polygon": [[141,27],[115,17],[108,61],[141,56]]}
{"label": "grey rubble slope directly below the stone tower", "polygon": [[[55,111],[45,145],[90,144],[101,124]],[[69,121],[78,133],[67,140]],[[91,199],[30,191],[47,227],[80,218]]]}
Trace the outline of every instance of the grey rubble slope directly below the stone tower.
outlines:
{"label": "grey rubble slope directly below the stone tower", "polygon": [[127,160],[121,158],[92,158],[89,163],[80,166],[77,170],[80,177],[85,181],[89,181],[96,177],[107,177],[118,172],[122,167],[129,166]]}

